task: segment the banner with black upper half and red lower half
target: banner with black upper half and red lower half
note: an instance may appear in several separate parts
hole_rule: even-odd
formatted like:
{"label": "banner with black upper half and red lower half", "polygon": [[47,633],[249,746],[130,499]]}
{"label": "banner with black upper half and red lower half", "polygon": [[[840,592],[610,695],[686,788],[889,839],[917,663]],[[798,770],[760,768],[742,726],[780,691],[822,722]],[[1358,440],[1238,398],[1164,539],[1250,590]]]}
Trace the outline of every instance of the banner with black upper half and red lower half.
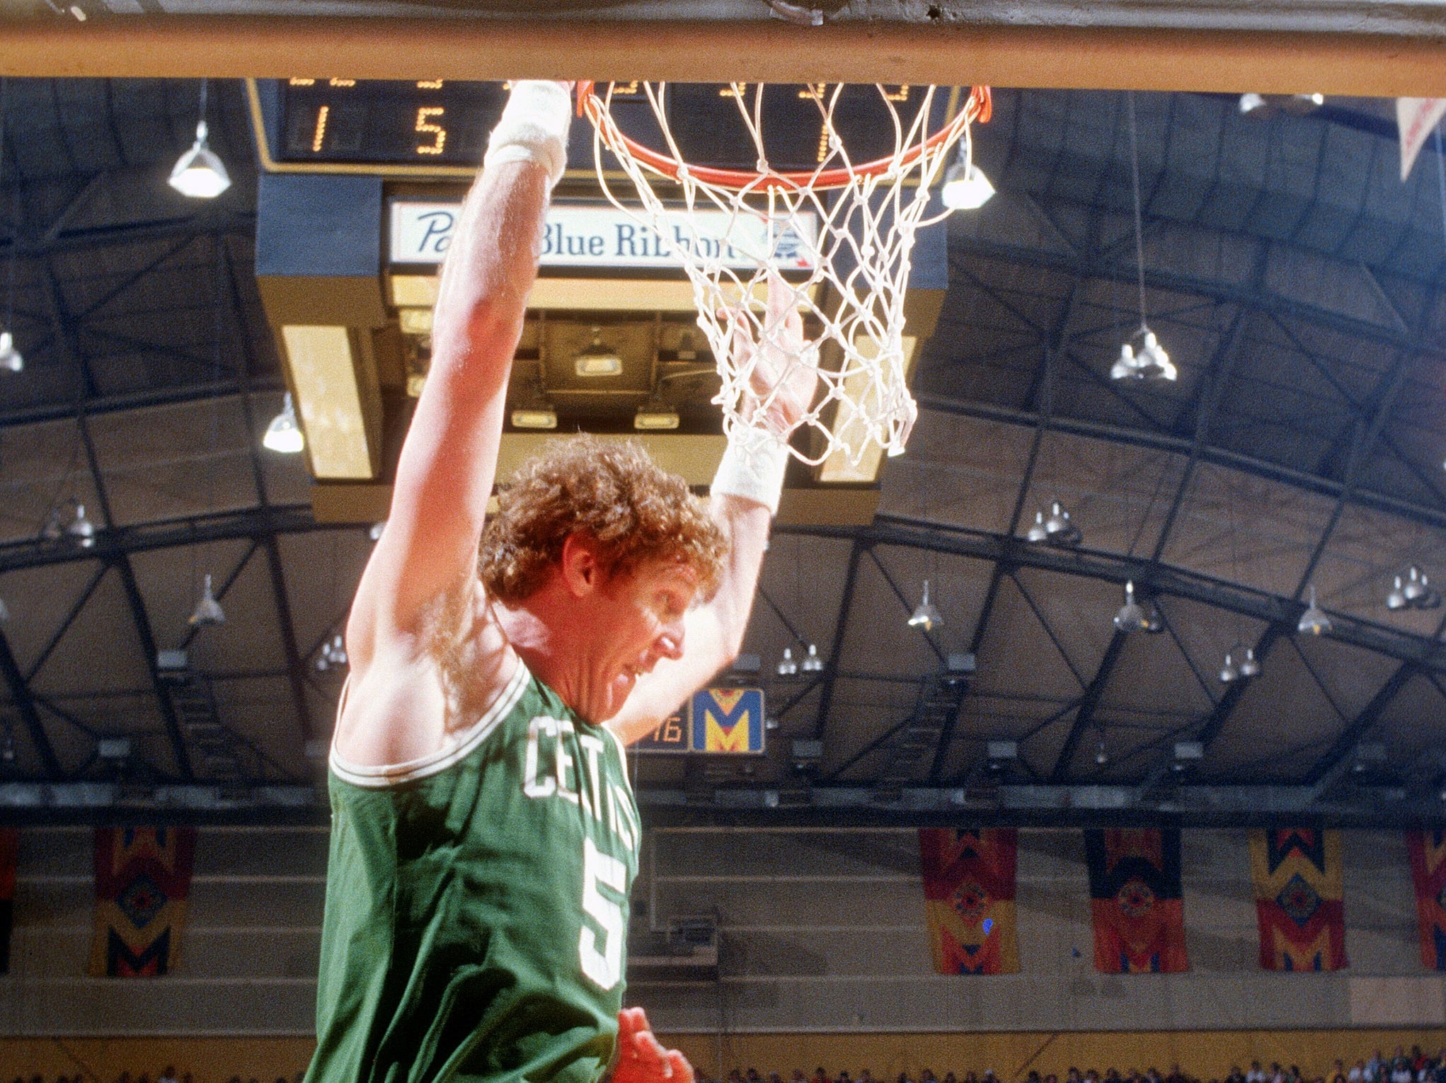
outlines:
{"label": "banner with black upper half and red lower half", "polygon": [[1189,970],[1180,831],[1084,831],[1084,857],[1095,969],[1105,975]]}

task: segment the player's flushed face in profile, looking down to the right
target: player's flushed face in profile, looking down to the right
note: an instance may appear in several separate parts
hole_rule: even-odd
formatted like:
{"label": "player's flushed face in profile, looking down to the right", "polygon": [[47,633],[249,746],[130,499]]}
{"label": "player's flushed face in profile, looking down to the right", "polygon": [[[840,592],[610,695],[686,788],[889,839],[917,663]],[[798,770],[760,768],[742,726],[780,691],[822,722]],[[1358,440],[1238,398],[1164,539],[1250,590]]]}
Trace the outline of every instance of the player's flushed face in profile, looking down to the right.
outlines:
{"label": "player's flushed face in profile, looking down to the right", "polygon": [[638,678],[659,661],[683,656],[683,617],[697,591],[697,573],[677,561],[651,561],[600,587],[593,722],[622,710]]}

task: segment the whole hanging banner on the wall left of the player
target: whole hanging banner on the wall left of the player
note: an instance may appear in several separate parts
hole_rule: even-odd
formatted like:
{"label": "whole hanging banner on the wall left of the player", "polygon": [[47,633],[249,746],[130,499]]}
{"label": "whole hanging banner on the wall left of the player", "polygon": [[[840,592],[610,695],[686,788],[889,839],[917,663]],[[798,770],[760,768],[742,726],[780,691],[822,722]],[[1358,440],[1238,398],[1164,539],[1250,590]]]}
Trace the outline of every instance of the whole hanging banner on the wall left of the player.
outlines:
{"label": "whole hanging banner on the wall left of the player", "polygon": [[93,977],[156,977],[175,966],[194,855],[194,827],[95,829]]}

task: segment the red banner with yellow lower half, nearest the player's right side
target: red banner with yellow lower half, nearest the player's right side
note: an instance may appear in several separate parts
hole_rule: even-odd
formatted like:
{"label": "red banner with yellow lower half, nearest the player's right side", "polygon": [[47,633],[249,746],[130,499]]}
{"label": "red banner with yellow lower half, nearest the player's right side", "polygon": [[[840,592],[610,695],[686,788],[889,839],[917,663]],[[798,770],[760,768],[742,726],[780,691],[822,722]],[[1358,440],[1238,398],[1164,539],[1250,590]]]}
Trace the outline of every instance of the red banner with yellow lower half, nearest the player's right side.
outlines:
{"label": "red banner with yellow lower half, nearest the player's right side", "polygon": [[1008,829],[921,827],[924,914],[934,970],[1017,975],[1014,873],[1019,833]]}

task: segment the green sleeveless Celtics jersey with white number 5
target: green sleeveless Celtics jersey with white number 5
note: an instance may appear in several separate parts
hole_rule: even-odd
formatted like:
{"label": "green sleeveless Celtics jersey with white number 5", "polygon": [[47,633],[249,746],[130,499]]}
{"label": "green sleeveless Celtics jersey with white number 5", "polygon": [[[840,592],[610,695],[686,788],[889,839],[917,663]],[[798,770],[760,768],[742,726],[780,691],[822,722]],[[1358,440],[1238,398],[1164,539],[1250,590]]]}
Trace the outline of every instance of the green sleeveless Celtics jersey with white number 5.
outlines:
{"label": "green sleeveless Celtics jersey with white number 5", "polygon": [[593,1083],[617,1037],[638,843],[622,743],[521,662],[432,756],[333,752],[307,1083]]}

